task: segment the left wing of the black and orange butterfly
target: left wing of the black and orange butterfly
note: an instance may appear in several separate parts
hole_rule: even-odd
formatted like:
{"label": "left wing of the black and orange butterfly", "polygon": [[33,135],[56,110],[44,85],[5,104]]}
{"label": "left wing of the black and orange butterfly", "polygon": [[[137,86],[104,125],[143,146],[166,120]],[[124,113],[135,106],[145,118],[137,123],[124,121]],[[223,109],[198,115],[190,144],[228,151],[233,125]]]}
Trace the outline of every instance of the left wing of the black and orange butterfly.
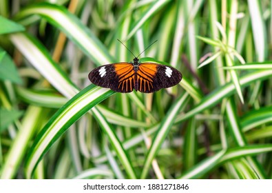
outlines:
{"label": "left wing of the black and orange butterfly", "polygon": [[95,85],[110,88],[116,92],[132,92],[135,71],[132,63],[112,63],[92,70],[89,79]]}

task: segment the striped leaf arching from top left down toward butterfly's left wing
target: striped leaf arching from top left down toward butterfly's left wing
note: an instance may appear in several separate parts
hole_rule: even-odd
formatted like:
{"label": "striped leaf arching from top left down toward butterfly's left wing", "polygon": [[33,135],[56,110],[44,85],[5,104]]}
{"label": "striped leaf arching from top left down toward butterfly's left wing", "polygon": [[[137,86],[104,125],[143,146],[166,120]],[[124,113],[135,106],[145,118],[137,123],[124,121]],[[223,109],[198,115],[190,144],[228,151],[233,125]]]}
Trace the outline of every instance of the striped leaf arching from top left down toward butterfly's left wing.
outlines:
{"label": "striped leaf arching from top left down toward butterfly's left wing", "polygon": [[105,45],[67,9],[50,3],[37,3],[19,12],[16,19],[23,22],[24,19],[28,19],[33,14],[39,14],[52,25],[62,30],[87,56],[95,61],[96,65],[114,61]]}

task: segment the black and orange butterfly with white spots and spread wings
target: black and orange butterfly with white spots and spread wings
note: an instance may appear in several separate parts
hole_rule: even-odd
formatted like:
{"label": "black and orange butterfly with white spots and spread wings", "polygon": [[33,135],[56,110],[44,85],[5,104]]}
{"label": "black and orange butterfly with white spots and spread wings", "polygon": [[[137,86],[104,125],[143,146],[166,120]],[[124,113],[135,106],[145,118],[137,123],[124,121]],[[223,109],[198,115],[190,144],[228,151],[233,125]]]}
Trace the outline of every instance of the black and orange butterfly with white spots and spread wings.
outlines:
{"label": "black and orange butterfly with white spots and spread wings", "polygon": [[[127,50],[129,49],[127,48]],[[129,52],[131,51],[129,50]],[[92,70],[88,77],[95,85],[123,93],[133,90],[145,93],[156,92],[161,88],[174,86],[181,81],[182,74],[175,68],[158,63],[140,63],[138,57],[134,55],[133,62],[101,65]]]}

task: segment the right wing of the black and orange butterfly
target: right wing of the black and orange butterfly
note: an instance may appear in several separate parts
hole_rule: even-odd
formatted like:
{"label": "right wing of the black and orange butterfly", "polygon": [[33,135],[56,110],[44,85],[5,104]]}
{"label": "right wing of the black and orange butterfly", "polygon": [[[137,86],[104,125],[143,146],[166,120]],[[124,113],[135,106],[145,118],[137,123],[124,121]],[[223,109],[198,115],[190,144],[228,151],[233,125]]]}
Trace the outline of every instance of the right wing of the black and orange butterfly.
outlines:
{"label": "right wing of the black and orange butterfly", "polygon": [[158,63],[140,63],[136,73],[135,90],[155,92],[178,84],[182,74],[175,68]]}

